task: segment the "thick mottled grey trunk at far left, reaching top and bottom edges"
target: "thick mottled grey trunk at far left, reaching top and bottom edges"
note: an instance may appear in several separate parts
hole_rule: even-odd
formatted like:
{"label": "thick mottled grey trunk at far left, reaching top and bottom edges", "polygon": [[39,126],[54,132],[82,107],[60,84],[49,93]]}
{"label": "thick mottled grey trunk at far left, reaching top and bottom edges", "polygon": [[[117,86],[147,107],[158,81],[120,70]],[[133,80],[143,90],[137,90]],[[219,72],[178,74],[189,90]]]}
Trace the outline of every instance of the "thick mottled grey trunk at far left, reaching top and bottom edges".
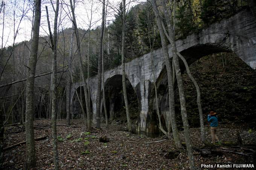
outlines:
{"label": "thick mottled grey trunk at far left, reaching top and bottom edges", "polygon": [[35,0],[35,20],[33,25],[33,38],[29,58],[26,90],[26,163],[25,169],[36,165],[34,140],[34,77],[37,64],[39,28],[41,20],[41,0]]}

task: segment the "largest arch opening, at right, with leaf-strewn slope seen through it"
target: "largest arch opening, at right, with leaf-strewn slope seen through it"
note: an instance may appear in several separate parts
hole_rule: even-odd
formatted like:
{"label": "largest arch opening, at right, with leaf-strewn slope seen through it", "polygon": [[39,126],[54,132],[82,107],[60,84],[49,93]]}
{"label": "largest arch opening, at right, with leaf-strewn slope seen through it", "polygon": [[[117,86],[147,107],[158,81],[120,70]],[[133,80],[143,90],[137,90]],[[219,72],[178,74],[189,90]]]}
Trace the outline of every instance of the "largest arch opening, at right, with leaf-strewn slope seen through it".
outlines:
{"label": "largest arch opening, at right, with leaf-strewn slope seen through it", "polygon": [[[207,114],[209,111],[219,113],[223,124],[230,120],[255,123],[256,118],[253,113],[256,111],[256,71],[234,53],[213,53],[193,60],[190,60],[189,68],[200,86],[203,113]],[[185,69],[181,67],[181,71],[189,124],[190,127],[199,127],[197,92]],[[178,127],[183,129],[176,87],[175,113]],[[162,124],[166,126],[168,125],[166,114],[169,111],[166,68],[163,68],[157,79],[157,94],[160,113],[164,117]],[[205,126],[207,126],[206,121]]]}

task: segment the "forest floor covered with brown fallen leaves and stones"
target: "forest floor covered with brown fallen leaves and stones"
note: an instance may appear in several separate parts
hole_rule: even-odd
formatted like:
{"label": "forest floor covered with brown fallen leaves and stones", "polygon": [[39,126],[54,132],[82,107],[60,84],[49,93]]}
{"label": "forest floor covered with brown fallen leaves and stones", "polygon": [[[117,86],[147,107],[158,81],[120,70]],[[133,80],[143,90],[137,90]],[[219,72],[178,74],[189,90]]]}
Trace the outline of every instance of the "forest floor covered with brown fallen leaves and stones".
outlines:
{"label": "forest floor covered with brown fallen leaves and stones", "polygon": [[[174,147],[174,141],[165,136],[150,138],[145,135],[128,133],[125,125],[113,123],[109,129],[101,124],[101,130],[93,128],[90,133],[83,120],[73,120],[72,126],[65,125],[66,120],[57,121],[59,165],[62,170],[81,169],[189,169],[186,149]],[[46,136],[35,141],[37,170],[54,169],[51,144],[50,120],[35,120],[35,138]],[[206,124],[206,138],[210,141],[209,125]],[[239,131],[243,146],[232,146],[229,142],[237,142],[236,131]],[[256,129],[246,124],[219,125],[217,135],[221,144],[208,149],[218,150],[203,156],[194,150],[197,169],[233,169],[217,168],[233,164],[253,164],[256,167]],[[109,142],[99,142],[105,136]],[[202,147],[200,128],[190,128],[193,146]],[[180,131],[182,141],[184,132]],[[63,140],[62,140],[63,139]],[[25,140],[24,127],[6,126],[4,148]],[[207,149],[205,147],[204,149]],[[4,169],[24,169],[26,144],[4,150]],[[203,167],[202,167],[203,166]],[[215,166],[207,168],[206,166]],[[253,168],[239,168],[253,169]]]}

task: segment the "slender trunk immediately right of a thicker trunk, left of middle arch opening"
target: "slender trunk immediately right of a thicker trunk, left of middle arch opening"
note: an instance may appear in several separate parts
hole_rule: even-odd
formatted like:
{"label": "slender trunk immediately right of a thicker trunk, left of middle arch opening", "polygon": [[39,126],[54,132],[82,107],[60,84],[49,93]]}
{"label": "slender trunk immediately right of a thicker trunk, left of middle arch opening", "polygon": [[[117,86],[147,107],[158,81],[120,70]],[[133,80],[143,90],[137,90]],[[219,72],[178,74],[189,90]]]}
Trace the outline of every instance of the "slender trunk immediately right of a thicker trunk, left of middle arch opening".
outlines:
{"label": "slender trunk immediately right of a thicker trunk, left of middle arch opening", "polygon": [[[107,6],[108,6],[108,3],[106,5],[106,15],[105,15],[105,21],[104,21],[104,28],[106,26]],[[104,77],[104,48],[103,48],[104,33],[105,33],[105,29],[103,30],[103,38],[102,38],[102,95],[103,95],[103,105],[104,105],[104,112],[105,112],[106,128],[108,129],[108,113],[107,113],[106,98],[105,98],[105,77]]]}

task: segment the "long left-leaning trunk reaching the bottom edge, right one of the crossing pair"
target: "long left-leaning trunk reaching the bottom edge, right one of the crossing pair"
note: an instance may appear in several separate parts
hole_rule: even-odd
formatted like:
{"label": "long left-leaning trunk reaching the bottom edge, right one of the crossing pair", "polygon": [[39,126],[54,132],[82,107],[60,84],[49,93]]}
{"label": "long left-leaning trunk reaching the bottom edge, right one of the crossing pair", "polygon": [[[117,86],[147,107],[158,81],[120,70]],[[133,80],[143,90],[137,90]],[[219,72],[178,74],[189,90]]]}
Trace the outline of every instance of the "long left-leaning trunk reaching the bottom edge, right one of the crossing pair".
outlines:
{"label": "long left-leaning trunk reaching the bottom edge, right one of the crossing pair", "polygon": [[189,165],[190,165],[191,170],[195,170],[196,169],[195,168],[195,160],[194,160],[192,143],[191,143],[191,138],[190,138],[190,133],[189,133],[189,123],[187,120],[187,109],[186,109],[186,100],[185,100],[185,96],[184,96],[183,80],[181,77],[180,65],[179,65],[178,54],[177,54],[178,52],[177,52],[177,48],[176,48],[176,44],[175,44],[174,33],[172,30],[172,23],[170,21],[170,16],[166,9],[165,1],[162,1],[162,8],[163,8],[163,13],[166,18],[168,30],[169,30],[169,40],[171,41],[170,43],[171,43],[171,49],[172,49],[172,54],[173,54],[172,57],[174,60],[175,73],[176,73],[178,89],[179,89],[181,117],[182,117],[182,122],[183,122],[183,127],[184,127],[184,133],[185,133],[187,155],[189,157]]}

